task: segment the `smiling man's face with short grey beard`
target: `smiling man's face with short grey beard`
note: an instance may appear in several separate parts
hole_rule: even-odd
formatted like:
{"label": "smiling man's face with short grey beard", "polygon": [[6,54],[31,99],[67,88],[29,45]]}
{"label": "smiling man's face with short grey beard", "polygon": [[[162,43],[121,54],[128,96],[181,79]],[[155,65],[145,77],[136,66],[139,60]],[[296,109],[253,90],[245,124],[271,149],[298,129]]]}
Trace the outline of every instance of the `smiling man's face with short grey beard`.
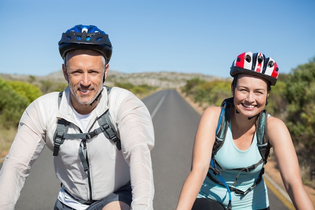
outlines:
{"label": "smiling man's face with short grey beard", "polygon": [[62,65],[62,69],[69,83],[72,106],[78,113],[90,113],[96,106],[90,104],[101,92],[109,66],[105,66],[102,54],[94,50],[71,50],[66,61],[67,66]]}

